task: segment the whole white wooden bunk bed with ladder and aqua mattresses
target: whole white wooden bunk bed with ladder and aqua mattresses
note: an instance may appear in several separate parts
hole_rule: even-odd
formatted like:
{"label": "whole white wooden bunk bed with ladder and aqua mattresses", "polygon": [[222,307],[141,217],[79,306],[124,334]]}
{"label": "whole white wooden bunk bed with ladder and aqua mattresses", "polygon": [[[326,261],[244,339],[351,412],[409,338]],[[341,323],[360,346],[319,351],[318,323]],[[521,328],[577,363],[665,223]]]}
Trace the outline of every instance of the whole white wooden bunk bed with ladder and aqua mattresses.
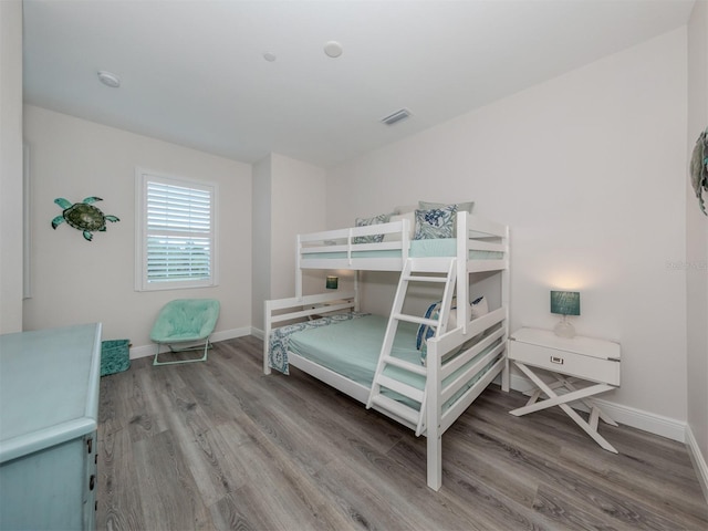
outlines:
{"label": "whole white wooden bunk bed with ladder and aqua mattresses", "polygon": [[[413,239],[408,217],[300,235],[295,296],[266,301],[263,372],[296,367],[425,436],[434,490],[442,434],[497,376],[509,389],[509,229],[454,214],[451,238]],[[304,295],[311,269],[355,271],[354,289]],[[361,271],[400,272],[388,316],[360,313]],[[499,278],[500,304],[478,315],[470,279],[480,272]],[[406,314],[418,283],[437,283],[442,296],[424,315]]]}

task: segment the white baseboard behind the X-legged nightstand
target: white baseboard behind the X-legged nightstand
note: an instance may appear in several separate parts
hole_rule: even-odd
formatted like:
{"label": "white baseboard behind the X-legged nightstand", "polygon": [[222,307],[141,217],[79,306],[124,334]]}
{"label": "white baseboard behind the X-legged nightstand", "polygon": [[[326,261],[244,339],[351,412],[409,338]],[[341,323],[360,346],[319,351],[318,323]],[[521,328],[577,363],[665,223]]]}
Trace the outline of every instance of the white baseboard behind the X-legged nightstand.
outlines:
{"label": "white baseboard behind the X-legged nightstand", "polygon": [[[527,393],[534,387],[529,379],[512,373],[511,388],[521,393]],[[559,394],[561,394],[560,391]],[[634,407],[623,406],[601,398],[594,398],[594,400],[620,424],[632,426],[633,428],[648,431],[649,434],[660,435],[662,437],[677,440],[679,442],[686,442],[686,429],[688,426],[685,421],[636,409]],[[573,404],[573,407],[576,407],[580,410],[586,410],[582,404]]]}

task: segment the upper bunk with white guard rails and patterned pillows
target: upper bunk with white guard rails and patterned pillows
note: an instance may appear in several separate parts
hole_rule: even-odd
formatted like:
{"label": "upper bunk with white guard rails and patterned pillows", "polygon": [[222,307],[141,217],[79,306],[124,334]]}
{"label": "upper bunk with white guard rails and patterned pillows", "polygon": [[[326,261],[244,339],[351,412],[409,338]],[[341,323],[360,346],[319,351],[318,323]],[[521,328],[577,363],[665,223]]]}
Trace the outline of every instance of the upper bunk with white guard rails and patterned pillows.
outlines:
{"label": "upper bunk with white guard rails and patterned pillows", "polygon": [[[366,271],[446,272],[451,258],[467,272],[509,268],[509,228],[457,210],[457,205],[372,218],[346,229],[298,236],[296,267]],[[376,221],[378,220],[378,221]]]}

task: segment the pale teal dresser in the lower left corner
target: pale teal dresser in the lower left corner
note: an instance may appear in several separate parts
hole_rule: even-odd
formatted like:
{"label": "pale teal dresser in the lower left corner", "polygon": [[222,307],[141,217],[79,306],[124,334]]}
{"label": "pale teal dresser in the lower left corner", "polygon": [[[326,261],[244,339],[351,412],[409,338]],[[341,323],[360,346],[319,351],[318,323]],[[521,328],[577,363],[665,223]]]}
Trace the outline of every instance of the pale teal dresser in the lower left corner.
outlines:
{"label": "pale teal dresser in the lower left corner", "polygon": [[0,530],[92,530],[101,324],[0,335]]}

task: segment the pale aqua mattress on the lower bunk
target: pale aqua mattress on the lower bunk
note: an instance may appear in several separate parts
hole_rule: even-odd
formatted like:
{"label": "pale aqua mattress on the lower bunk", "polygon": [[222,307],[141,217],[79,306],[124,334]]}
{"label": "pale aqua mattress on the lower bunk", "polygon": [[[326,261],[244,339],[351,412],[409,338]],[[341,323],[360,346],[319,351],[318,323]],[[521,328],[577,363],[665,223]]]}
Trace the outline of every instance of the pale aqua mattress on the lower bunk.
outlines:
{"label": "pale aqua mattress on the lower bunk", "polygon": [[[337,322],[327,326],[317,326],[304,330],[290,336],[289,351],[310,360],[317,365],[326,367],[348,379],[365,387],[371,387],[378,363],[381,345],[384,342],[388,317],[381,315],[365,315],[361,319]],[[418,325],[408,322],[399,322],[392,355],[414,364],[420,364],[420,352],[416,350],[416,332]],[[472,360],[462,365],[442,382],[442,386],[452,382],[460,373],[467,369],[477,360],[483,357],[496,345],[488,347]],[[487,368],[493,364],[490,363]],[[480,371],[476,377],[462,387],[455,397],[462,394],[475,382],[481,378],[486,369]],[[398,367],[387,366],[384,374],[404,382],[417,389],[425,388],[425,377],[409,373]],[[396,399],[418,408],[419,404],[396,396]]]}

